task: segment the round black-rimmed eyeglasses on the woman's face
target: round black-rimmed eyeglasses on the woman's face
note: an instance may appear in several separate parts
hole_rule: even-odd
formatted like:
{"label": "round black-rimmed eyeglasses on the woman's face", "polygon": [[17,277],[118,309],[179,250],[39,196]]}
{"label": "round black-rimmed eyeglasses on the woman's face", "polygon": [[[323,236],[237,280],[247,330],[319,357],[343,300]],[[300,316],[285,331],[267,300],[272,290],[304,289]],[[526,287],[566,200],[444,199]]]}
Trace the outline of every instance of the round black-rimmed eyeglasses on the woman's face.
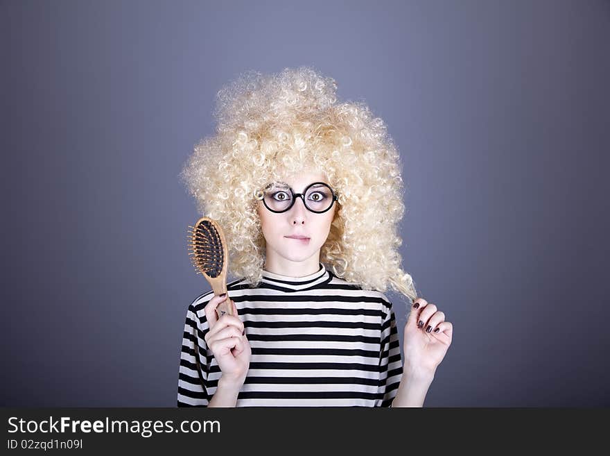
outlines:
{"label": "round black-rimmed eyeglasses on the woman's face", "polygon": [[333,203],[338,199],[333,189],[323,182],[309,184],[303,193],[294,193],[288,185],[275,183],[265,190],[259,190],[254,197],[262,200],[265,208],[278,214],[290,210],[297,197],[303,200],[307,210],[316,214],[322,214],[332,208]]}

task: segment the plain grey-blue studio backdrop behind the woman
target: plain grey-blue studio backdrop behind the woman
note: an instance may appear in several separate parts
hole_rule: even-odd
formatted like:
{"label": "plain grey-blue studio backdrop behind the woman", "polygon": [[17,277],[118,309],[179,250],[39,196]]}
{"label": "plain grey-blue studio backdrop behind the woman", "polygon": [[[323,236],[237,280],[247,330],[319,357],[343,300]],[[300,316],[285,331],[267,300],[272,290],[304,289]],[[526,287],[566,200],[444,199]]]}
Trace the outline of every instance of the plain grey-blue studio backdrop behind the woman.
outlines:
{"label": "plain grey-blue studio backdrop behind the woman", "polygon": [[223,84],[311,65],[403,156],[454,325],[424,405],[609,406],[610,3],[252,3],[0,2],[0,405],[175,406],[209,289],[177,175]]}

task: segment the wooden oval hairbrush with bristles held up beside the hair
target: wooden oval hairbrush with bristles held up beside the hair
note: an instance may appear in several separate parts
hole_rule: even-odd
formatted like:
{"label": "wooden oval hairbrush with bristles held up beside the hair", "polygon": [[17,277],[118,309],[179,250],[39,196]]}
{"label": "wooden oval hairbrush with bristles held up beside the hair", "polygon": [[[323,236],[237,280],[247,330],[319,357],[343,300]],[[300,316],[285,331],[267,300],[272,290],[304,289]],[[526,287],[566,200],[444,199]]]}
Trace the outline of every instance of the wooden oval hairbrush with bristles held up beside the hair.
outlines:
{"label": "wooden oval hairbrush with bristles held up beside the hair", "polygon": [[[225,233],[218,222],[209,217],[202,217],[190,226],[189,255],[197,270],[209,282],[214,294],[227,293],[227,271],[229,269],[227,242]],[[218,318],[223,314],[233,315],[233,305],[227,293],[227,299],[216,307]]]}

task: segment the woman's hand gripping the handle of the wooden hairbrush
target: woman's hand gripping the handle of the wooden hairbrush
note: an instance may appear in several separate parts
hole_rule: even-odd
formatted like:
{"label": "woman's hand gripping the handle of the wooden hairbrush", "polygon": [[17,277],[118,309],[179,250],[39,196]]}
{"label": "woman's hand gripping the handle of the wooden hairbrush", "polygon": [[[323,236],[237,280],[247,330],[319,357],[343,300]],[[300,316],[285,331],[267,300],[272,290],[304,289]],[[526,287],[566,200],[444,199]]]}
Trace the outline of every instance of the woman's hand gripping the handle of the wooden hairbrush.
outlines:
{"label": "woman's hand gripping the handle of the wooden hairbrush", "polygon": [[224,314],[219,319],[216,314],[218,304],[228,298],[226,294],[223,297],[214,295],[204,307],[210,328],[204,339],[222,371],[223,382],[241,387],[250,367],[252,349],[245,337],[243,323],[237,316],[237,308],[232,300],[229,299],[233,306],[233,315]]}

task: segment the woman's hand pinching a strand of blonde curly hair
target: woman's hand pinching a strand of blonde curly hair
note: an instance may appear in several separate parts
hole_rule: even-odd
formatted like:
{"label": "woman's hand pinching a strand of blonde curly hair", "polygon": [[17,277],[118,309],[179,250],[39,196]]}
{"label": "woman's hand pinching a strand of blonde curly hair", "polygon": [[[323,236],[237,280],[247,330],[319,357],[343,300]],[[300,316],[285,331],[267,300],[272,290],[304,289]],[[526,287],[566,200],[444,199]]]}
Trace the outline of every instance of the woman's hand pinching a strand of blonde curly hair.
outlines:
{"label": "woman's hand pinching a strand of blonde curly hair", "polygon": [[445,314],[424,298],[417,298],[405,325],[404,371],[415,377],[434,376],[451,345],[453,325]]}

